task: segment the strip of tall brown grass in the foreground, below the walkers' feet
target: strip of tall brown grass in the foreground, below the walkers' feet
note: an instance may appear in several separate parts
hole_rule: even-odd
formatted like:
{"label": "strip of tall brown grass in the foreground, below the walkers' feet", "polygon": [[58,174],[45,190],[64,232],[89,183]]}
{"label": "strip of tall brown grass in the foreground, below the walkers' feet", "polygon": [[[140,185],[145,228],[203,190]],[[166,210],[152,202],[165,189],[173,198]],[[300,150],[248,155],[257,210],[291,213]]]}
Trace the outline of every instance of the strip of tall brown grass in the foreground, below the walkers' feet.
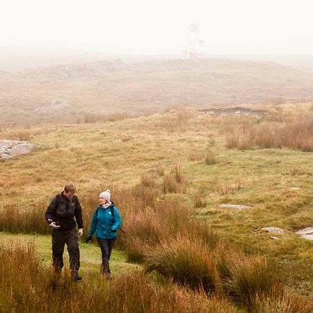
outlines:
{"label": "strip of tall brown grass in the foreground, below the walkers' feet", "polygon": [[136,271],[111,282],[58,278],[35,257],[33,244],[0,245],[0,312],[234,312],[227,299],[207,298],[175,284],[163,287]]}

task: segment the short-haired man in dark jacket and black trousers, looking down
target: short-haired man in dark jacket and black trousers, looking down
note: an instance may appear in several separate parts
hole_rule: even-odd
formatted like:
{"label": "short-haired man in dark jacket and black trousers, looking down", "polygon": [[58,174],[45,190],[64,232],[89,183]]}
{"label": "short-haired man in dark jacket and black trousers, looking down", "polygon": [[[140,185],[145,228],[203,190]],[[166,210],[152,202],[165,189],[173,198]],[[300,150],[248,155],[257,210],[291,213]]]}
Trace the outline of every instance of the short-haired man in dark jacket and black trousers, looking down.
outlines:
{"label": "short-haired man in dark jacket and black trousers, looking down", "polygon": [[[47,208],[45,217],[52,228],[52,259],[56,273],[63,268],[63,252],[66,243],[70,255],[72,278],[81,280],[79,276],[79,243],[78,237],[83,234],[83,216],[81,204],[76,195],[73,184],[67,184],[62,193],[56,195]],[[74,220],[76,219],[76,222]],[[79,230],[77,232],[76,225]]]}

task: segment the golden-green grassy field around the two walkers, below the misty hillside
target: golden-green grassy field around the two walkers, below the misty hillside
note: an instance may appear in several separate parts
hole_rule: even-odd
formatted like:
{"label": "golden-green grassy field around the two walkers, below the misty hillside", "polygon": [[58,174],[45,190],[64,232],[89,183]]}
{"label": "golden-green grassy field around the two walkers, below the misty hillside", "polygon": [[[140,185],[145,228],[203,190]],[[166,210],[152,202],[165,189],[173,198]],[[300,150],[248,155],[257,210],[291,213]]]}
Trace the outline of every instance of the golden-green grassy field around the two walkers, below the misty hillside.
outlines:
{"label": "golden-green grassy field around the two walkers, below the misty hillside", "polygon": [[[188,287],[196,293],[189,296],[219,307],[200,312],[312,312],[313,242],[295,234],[313,225],[312,108],[264,105],[268,114],[220,116],[177,108],[115,121],[6,127],[0,138],[24,135],[38,148],[0,163],[0,240],[33,240],[36,258],[49,268],[43,214],[51,197],[74,182],[87,232],[99,192],[111,188],[127,232],[114,250],[115,279],[145,268],[143,277],[158,286],[154,299],[169,278],[171,290]],[[289,141],[282,140],[284,129],[291,129]],[[99,248],[82,243],[81,255],[82,275],[96,284]]]}

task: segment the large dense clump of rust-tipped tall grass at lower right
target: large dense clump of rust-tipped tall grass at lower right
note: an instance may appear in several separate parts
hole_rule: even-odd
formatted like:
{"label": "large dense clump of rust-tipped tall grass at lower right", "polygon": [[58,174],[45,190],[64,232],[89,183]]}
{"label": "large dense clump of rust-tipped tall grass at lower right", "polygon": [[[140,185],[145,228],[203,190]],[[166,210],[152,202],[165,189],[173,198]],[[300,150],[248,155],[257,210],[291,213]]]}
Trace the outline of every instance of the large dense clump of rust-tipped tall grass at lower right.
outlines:
{"label": "large dense clump of rust-tipped tall grass at lower right", "polygon": [[275,282],[273,269],[263,257],[243,255],[223,243],[209,248],[203,241],[177,237],[147,255],[145,271],[156,271],[193,290],[228,296],[249,312],[266,312],[267,307],[272,310],[268,312],[280,312],[274,310],[275,305],[286,306],[282,312],[288,312],[287,308],[293,308],[290,312],[312,309],[312,302],[303,298],[291,304],[292,297]]}

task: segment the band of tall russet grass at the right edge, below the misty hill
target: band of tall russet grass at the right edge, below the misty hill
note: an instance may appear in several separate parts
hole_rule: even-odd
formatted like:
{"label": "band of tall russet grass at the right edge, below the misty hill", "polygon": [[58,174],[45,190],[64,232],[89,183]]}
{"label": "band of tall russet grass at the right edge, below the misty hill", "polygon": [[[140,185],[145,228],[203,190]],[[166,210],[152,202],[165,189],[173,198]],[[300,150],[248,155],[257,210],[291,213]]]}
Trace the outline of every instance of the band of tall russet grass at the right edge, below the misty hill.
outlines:
{"label": "band of tall russet grass at the right edge, below the misty hill", "polygon": [[270,123],[246,125],[226,133],[226,147],[229,149],[282,148],[313,151],[313,118],[298,117],[291,121],[284,120],[281,125]]}

